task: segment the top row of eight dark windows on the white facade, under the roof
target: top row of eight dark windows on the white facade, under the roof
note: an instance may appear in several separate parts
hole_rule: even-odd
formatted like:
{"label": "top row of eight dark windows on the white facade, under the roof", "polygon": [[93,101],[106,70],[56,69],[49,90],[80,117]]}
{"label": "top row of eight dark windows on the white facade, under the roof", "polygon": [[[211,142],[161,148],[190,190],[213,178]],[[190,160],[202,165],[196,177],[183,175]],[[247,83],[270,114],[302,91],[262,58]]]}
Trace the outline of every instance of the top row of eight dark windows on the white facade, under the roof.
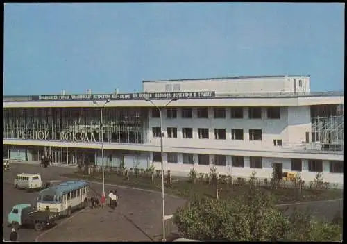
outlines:
{"label": "top row of eight dark windows on the white facade, under the roof", "polygon": [[[228,108],[213,108],[213,117],[215,119],[226,118],[226,109]],[[181,117],[184,119],[193,117],[193,108],[181,108]],[[208,119],[209,113],[208,108],[196,108],[196,117],[201,119]],[[157,108],[152,108],[152,117],[160,117],[160,112]],[[243,119],[244,118],[244,108],[235,107],[230,108],[230,117],[232,119]],[[167,118],[175,119],[177,118],[177,108],[167,108]],[[262,118],[262,108],[260,107],[250,107],[248,108],[248,118],[250,119],[261,119]],[[270,107],[267,108],[267,118],[268,119],[280,119],[281,110],[280,107]]]}

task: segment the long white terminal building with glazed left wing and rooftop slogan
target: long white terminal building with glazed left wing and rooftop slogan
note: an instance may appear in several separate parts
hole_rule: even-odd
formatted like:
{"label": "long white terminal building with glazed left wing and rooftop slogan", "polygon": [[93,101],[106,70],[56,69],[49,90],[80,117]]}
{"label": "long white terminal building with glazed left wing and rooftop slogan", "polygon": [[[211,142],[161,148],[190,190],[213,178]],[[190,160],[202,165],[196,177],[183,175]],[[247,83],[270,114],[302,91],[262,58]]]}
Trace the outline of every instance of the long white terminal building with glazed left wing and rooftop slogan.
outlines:
{"label": "long white terminal building with glazed left wing and rooftop slogan", "polygon": [[215,165],[233,177],[276,170],[305,181],[322,172],[343,186],[344,92],[310,92],[310,76],[248,76],[143,81],[133,94],[4,96],[3,145],[22,161],[101,165],[103,147],[106,168],[160,169],[163,160],[174,175]]}

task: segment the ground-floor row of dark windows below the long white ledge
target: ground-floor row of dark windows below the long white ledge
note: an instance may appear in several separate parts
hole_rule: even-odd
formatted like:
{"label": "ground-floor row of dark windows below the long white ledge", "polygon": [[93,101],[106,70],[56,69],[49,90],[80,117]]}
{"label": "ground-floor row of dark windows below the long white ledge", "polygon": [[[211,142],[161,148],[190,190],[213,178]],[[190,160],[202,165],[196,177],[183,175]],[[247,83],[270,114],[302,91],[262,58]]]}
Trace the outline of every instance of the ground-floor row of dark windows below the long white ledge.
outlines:
{"label": "ground-floor row of dark windows below the long white ledge", "polygon": [[[194,164],[194,154],[182,154],[182,163]],[[160,152],[153,152],[153,162],[161,162],[162,155]],[[226,166],[226,155],[214,155],[212,162],[217,166]],[[168,152],[167,163],[178,163],[178,153]],[[198,154],[198,165],[210,165],[209,154]],[[244,156],[231,156],[231,166],[244,168]],[[249,168],[261,169],[262,157],[250,156]],[[303,168],[301,159],[291,159],[291,170],[301,172]],[[343,173],[344,164],[343,161],[330,161],[330,173]],[[308,161],[309,172],[323,172],[323,162],[321,160],[309,160]]]}

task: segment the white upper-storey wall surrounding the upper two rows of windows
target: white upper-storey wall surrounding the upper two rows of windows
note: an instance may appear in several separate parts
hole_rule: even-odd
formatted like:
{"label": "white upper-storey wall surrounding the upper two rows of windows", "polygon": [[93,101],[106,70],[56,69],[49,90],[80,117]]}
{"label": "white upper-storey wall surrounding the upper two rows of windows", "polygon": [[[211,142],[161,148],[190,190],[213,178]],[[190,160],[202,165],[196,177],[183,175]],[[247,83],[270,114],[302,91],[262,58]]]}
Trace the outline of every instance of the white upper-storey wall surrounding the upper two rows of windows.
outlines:
{"label": "white upper-storey wall surrounding the upper two rows of windows", "polygon": [[[280,119],[268,119],[266,108],[262,108],[262,119],[249,119],[248,108],[244,108],[243,119],[231,119],[230,108],[226,109],[226,118],[214,119],[213,108],[209,108],[209,118],[197,118],[197,109],[193,109],[192,119],[181,118],[181,109],[178,109],[176,119],[167,119],[166,111],[162,113],[164,124],[162,132],[165,133],[165,146],[199,148],[239,148],[239,149],[278,149],[273,140],[282,140],[282,143],[301,143],[305,140],[305,131],[310,131],[310,107],[282,107]],[[150,115],[151,116],[151,113]],[[160,145],[160,138],[153,137],[152,128],[160,127],[160,118],[149,120],[149,144]],[[167,127],[177,128],[177,138],[167,137]],[[182,128],[193,128],[193,138],[183,138]],[[198,128],[209,128],[209,139],[198,138]],[[214,139],[214,129],[226,129],[226,140]],[[232,129],[244,129],[244,140],[232,140]],[[262,140],[249,140],[249,129],[262,129]]]}

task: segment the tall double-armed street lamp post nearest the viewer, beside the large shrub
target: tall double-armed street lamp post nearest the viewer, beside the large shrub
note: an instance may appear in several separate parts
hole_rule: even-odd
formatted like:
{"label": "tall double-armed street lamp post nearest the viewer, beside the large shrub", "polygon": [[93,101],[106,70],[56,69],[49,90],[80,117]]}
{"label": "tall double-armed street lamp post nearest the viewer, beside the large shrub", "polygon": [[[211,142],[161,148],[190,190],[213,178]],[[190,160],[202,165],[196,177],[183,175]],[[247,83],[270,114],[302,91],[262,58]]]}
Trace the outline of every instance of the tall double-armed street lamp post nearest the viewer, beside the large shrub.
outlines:
{"label": "tall double-armed street lamp post nearest the viewer, beside the large shrub", "polygon": [[[177,101],[178,98],[173,98],[171,99],[167,104],[165,104],[165,106],[163,106],[162,108],[167,107],[169,104],[171,104],[172,101]],[[159,114],[160,114],[160,154],[161,154],[161,158],[162,158],[162,241],[165,241],[165,203],[164,203],[164,161],[163,161],[163,156],[164,156],[164,145],[162,143],[162,137],[163,137],[163,133],[162,133],[162,108],[158,107],[151,99],[149,99],[148,97],[146,97],[146,101],[149,101],[151,104],[153,104],[153,106],[155,106],[155,108],[158,109]]]}

